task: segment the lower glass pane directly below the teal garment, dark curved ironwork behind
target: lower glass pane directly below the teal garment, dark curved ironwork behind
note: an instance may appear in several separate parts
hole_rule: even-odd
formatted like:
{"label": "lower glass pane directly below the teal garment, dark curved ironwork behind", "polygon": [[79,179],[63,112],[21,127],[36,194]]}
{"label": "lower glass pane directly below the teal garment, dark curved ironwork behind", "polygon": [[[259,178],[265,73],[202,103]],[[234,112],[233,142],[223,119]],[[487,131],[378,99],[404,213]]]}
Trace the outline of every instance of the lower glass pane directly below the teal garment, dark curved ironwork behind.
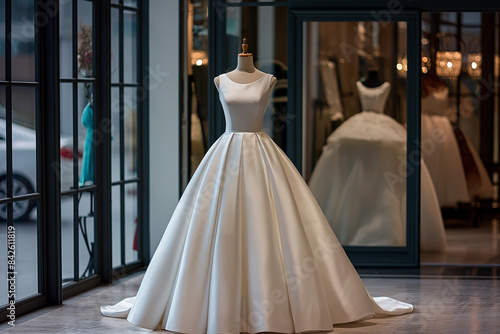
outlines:
{"label": "lower glass pane directly below the teal garment, dark curved ironwork behind", "polygon": [[94,244],[94,196],[91,191],[81,194],[78,205],[79,224],[79,274],[80,278],[89,277],[95,273]]}

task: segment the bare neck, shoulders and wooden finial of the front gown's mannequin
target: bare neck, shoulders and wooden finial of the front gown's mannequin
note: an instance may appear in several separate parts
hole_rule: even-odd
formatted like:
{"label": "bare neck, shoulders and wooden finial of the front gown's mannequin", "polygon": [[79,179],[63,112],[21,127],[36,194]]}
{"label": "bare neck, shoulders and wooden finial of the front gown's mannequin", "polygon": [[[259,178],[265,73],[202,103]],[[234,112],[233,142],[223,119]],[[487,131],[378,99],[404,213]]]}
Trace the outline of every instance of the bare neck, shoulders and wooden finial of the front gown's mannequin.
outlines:
{"label": "bare neck, shoulders and wooden finial of the front gown's mannequin", "polygon": [[[238,65],[231,72],[226,73],[228,78],[239,84],[248,84],[262,78],[265,73],[259,71],[255,68],[253,64],[253,56],[251,53],[248,53],[248,44],[246,37],[243,38],[243,44],[241,45],[243,52],[238,54]],[[271,85],[274,86],[276,84],[277,79],[275,77],[272,78]],[[219,77],[214,78],[214,83],[217,87],[219,87]]]}

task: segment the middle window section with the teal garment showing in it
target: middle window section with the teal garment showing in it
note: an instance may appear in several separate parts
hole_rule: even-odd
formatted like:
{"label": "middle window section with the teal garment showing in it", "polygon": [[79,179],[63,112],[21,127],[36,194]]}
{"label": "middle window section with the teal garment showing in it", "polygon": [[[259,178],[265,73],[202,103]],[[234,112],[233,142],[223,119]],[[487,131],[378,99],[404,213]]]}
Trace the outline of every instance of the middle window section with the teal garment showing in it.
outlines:
{"label": "middle window section with the teal garment showing in it", "polygon": [[63,284],[95,274],[93,3],[60,3],[61,241]]}

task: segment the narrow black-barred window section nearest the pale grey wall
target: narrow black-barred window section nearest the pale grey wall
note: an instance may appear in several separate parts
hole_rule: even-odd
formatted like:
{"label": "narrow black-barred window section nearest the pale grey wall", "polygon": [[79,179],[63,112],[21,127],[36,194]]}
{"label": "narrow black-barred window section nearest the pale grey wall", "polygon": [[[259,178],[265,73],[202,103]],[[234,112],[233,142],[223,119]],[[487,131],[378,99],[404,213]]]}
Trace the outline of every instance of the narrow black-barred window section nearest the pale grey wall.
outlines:
{"label": "narrow black-barred window section nearest the pale grey wall", "polygon": [[136,1],[111,8],[111,204],[113,267],[139,260],[138,115],[144,90],[139,83]]}

